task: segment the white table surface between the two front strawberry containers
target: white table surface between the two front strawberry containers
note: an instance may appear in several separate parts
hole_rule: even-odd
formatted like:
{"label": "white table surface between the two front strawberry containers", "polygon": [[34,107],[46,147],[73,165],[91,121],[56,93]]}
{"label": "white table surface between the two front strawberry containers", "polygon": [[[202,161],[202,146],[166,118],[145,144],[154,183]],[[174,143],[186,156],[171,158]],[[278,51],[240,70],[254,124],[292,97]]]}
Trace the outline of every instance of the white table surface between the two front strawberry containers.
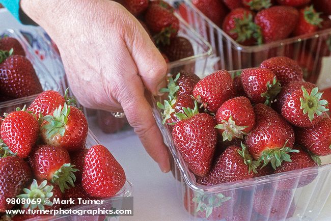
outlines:
{"label": "white table surface between the two front strawberry containers", "polygon": [[[0,9],[0,17],[6,18],[6,22],[0,22],[0,28],[26,29],[5,9]],[[177,197],[174,177],[159,170],[132,130],[104,134],[96,125],[90,124],[90,128],[120,162],[128,180],[133,183],[134,216],[122,216],[120,220],[190,220]],[[331,220],[331,198],[315,220]]]}

